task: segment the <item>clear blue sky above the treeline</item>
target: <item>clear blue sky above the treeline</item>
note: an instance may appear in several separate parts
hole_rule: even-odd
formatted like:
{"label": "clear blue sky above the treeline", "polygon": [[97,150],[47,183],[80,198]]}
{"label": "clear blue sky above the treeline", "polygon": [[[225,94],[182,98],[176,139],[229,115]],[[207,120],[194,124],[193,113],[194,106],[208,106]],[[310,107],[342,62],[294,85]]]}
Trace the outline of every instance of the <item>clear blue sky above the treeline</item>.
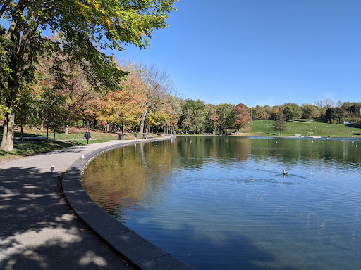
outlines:
{"label": "clear blue sky above the treeline", "polygon": [[361,102],[360,0],[180,0],[147,49],[181,98],[247,106]]}

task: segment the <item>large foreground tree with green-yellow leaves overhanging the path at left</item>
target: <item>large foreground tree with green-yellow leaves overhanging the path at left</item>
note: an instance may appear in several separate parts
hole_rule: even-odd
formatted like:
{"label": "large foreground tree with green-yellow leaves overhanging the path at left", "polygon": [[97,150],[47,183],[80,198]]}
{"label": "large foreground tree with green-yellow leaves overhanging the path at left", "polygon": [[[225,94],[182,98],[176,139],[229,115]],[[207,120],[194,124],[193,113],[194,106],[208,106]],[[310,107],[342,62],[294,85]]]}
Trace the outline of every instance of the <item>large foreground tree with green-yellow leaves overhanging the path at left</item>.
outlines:
{"label": "large foreground tree with green-yellow leaves overhanging the path at left", "polygon": [[[13,150],[14,101],[19,87],[32,83],[38,56],[66,53],[95,89],[114,89],[127,73],[97,49],[122,50],[127,44],[145,48],[154,29],[167,27],[176,1],[0,1],[0,18],[8,25],[0,27],[0,90],[6,107],[0,150]],[[62,41],[42,37],[44,29],[59,32]],[[56,58],[58,77],[61,62]]]}

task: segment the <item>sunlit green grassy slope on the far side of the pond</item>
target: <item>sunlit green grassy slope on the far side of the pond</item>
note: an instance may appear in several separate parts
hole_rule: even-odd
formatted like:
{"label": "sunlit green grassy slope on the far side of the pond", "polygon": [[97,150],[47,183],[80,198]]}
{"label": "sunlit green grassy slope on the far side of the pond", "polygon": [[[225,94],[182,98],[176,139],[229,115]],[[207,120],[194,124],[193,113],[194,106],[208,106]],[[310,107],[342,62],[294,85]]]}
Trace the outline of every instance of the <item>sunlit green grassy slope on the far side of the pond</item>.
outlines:
{"label": "sunlit green grassy slope on the far side of the pond", "polygon": [[[282,136],[310,135],[322,137],[360,137],[361,129],[357,127],[346,127],[343,124],[326,124],[322,122],[286,122],[287,131]],[[267,128],[268,126],[268,128]],[[277,132],[272,129],[273,121],[252,121],[251,129],[243,131],[248,134],[258,136],[277,136]]]}

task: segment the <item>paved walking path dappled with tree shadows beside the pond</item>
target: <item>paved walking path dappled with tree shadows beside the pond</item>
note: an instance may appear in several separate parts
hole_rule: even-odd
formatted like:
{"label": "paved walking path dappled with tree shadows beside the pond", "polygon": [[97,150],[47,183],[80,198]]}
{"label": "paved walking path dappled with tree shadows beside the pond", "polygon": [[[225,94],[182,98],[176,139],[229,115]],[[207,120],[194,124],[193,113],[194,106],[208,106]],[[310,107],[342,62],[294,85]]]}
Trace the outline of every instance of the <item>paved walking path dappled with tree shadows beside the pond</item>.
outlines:
{"label": "paved walking path dappled with tree shadows beside the pond", "polygon": [[135,269],[75,217],[59,182],[82,155],[129,142],[64,148],[0,165],[0,269]]}

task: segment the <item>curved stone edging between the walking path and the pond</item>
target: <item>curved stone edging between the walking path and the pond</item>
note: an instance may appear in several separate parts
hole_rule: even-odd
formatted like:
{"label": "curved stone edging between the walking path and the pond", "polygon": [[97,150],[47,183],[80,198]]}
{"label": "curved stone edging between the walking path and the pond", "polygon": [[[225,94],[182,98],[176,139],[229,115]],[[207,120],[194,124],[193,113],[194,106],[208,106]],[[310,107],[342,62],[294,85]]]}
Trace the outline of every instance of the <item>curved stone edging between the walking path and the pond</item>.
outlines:
{"label": "curved stone edging between the walking path and the pond", "polygon": [[166,139],[170,139],[170,137],[132,141],[94,150],[92,153],[87,154],[84,159],[80,158],[75,161],[66,170],[62,180],[63,193],[66,196],[68,205],[70,205],[75,214],[111,248],[121,253],[123,257],[126,257],[137,268],[144,270],[194,270],[194,267],[161,250],[157,245],[150,243],[114,219],[114,217],[111,217],[111,215],[94,203],[80,183],[80,176],[85,167],[99,155],[123,146]]}

